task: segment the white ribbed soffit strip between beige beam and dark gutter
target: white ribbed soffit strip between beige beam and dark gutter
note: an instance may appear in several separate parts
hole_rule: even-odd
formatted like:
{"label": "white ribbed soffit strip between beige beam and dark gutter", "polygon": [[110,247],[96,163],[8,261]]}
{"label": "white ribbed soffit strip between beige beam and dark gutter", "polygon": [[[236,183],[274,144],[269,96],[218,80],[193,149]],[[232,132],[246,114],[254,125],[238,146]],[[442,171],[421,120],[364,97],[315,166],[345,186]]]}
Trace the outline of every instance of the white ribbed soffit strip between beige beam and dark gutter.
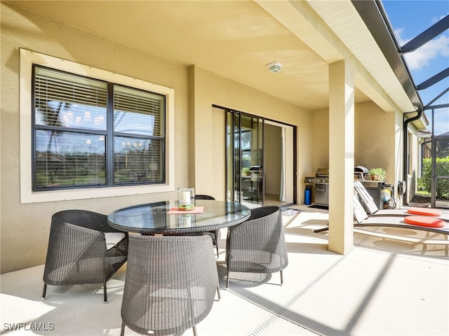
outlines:
{"label": "white ribbed soffit strip between beige beam and dark gutter", "polygon": [[[401,109],[401,112],[415,111],[415,107],[410,102],[406,91],[351,1],[311,0],[309,3],[358,59],[358,62],[366,68],[382,89],[387,92],[393,102]],[[366,93],[368,94],[368,92]],[[391,108],[393,109],[393,106]]]}

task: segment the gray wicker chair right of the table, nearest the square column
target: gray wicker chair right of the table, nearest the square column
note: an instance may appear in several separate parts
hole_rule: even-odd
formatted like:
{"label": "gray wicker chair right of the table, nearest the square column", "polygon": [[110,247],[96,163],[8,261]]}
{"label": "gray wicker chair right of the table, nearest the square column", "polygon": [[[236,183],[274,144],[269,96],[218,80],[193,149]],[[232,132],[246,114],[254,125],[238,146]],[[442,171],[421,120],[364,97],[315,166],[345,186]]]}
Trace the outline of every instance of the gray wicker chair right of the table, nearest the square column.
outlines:
{"label": "gray wicker chair right of the table, nearest the square column", "polygon": [[229,272],[281,272],[283,283],[288,256],[280,207],[251,209],[247,221],[228,228],[226,265],[227,288]]}

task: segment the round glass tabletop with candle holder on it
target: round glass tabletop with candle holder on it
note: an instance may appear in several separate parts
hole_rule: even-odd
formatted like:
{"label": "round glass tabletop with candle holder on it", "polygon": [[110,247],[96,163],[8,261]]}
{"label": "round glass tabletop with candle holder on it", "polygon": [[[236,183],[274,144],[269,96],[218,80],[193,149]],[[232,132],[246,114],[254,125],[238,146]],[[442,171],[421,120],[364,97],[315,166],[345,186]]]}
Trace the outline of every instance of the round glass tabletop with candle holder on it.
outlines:
{"label": "round glass tabletop with candle holder on it", "polygon": [[142,235],[182,235],[237,225],[251,214],[250,209],[234,202],[196,200],[195,205],[203,207],[201,214],[168,214],[170,209],[177,209],[176,201],[138,204],[112,212],[107,223],[112,228]]}

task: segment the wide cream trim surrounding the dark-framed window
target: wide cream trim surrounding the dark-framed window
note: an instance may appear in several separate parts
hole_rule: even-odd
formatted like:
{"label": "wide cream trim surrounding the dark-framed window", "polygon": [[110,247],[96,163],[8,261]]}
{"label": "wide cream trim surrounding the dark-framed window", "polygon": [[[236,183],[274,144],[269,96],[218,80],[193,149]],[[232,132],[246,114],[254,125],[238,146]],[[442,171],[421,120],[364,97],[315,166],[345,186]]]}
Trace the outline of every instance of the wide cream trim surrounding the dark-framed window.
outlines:
{"label": "wide cream trim surrounding the dark-framed window", "polygon": [[[67,71],[81,76],[114,82],[166,97],[166,183],[148,186],[120,186],[110,188],[81,188],[70,190],[32,191],[32,65],[39,64],[52,69]],[[175,90],[170,87],[123,76],[68,61],[39,52],[20,49],[20,202],[55,202],[85,200],[99,197],[115,197],[164,193],[175,190]]]}

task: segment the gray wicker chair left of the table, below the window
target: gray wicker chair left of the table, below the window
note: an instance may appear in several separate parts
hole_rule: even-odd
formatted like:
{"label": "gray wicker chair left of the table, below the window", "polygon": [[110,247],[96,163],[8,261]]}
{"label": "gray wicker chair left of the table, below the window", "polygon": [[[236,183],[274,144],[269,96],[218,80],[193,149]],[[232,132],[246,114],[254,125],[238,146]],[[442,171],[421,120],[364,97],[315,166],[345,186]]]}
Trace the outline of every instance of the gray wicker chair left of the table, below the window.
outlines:
{"label": "gray wicker chair left of the table, below the window", "polygon": [[107,224],[107,216],[86,210],[53,214],[43,272],[42,300],[47,285],[102,283],[107,302],[107,280],[126,262],[128,232]]}

